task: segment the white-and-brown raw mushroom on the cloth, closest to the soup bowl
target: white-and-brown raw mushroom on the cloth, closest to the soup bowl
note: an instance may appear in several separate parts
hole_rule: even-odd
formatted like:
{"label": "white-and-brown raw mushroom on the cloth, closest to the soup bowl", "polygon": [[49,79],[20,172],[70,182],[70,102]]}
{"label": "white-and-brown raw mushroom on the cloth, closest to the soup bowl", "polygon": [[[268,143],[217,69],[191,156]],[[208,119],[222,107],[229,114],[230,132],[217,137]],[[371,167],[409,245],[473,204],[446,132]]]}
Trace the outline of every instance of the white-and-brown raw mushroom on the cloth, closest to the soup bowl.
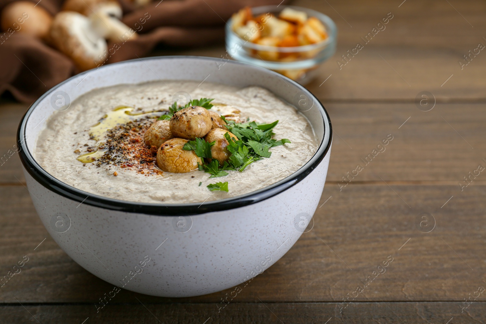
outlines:
{"label": "white-and-brown raw mushroom on the cloth, closest to the soup bowl", "polygon": [[106,41],[91,28],[89,19],[72,11],[62,11],[51,26],[54,46],[69,56],[82,70],[96,68],[106,55]]}

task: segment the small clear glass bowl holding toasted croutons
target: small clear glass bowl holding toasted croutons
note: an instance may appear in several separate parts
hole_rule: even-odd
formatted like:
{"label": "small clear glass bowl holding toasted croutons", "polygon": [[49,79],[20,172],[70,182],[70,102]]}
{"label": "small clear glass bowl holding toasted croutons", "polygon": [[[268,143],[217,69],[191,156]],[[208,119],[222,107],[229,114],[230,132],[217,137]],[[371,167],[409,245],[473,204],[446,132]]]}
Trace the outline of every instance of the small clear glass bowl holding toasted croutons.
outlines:
{"label": "small clear glass bowl holding toasted croutons", "polygon": [[319,19],[326,27],[328,37],[310,45],[265,46],[241,38],[231,29],[230,18],[226,23],[226,52],[237,61],[274,70],[304,85],[312,80],[316,69],[336,51],[337,28],[330,17],[303,7],[270,5],[251,8],[251,12],[254,17],[266,13],[278,16],[287,7]]}

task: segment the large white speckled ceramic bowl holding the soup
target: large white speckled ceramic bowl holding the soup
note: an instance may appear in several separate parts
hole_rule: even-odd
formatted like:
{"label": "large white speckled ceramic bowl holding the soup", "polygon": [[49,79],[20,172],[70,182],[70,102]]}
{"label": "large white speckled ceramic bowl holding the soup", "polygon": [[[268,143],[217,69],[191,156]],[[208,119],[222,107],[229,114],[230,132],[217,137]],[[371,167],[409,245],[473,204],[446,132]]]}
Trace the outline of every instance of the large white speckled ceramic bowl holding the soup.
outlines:
{"label": "large white speckled ceramic bowl holding the soup", "polygon": [[[56,100],[67,103],[94,88],[157,79],[265,87],[310,120],[319,148],[305,166],[269,187],[224,200],[180,205],[138,204],[80,191],[44,171],[33,158],[39,131],[59,106]],[[165,56],[110,64],[53,87],[25,114],[18,140],[35,209],[49,234],[74,261],[120,288],[188,297],[249,280],[292,247],[319,202],[331,134],[322,104],[286,77],[234,61],[222,65],[215,58]]]}

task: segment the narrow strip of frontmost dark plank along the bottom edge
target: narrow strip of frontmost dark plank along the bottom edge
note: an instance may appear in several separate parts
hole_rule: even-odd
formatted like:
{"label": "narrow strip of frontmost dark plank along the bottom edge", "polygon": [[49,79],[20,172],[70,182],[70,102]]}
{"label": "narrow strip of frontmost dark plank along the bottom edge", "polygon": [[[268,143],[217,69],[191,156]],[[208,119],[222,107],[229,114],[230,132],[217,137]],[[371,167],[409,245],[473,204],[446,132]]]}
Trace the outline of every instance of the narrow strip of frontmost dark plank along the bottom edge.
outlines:
{"label": "narrow strip of frontmost dark plank along the bottom edge", "polygon": [[[460,313],[458,303],[353,303],[342,313],[335,303],[229,304],[218,313],[214,304],[107,305],[96,313],[93,305],[0,306],[2,323],[285,323],[285,324],[396,324],[396,323],[486,323],[485,303],[472,304]],[[459,309],[459,312],[457,311]],[[38,322],[37,322],[38,321]],[[206,321],[206,322],[205,322]],[[327,322],[328,321],[328,322]]]}

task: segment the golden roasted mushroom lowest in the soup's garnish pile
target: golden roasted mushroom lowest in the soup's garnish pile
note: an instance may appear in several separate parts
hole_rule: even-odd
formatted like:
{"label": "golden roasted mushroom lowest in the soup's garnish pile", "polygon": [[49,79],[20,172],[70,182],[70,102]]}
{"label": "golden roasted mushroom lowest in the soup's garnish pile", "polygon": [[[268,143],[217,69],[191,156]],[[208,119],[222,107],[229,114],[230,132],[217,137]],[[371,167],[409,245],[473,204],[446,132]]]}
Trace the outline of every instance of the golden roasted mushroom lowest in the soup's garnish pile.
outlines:
{"label": "golden roasted mushroom lowest in the soup's garnish pile", "polygon": [[157,151],[157,165],[167,172],[187,173],[196,170],[203,161],[194,151],[182,148],[187,139],[172,138],[164,142]]}

